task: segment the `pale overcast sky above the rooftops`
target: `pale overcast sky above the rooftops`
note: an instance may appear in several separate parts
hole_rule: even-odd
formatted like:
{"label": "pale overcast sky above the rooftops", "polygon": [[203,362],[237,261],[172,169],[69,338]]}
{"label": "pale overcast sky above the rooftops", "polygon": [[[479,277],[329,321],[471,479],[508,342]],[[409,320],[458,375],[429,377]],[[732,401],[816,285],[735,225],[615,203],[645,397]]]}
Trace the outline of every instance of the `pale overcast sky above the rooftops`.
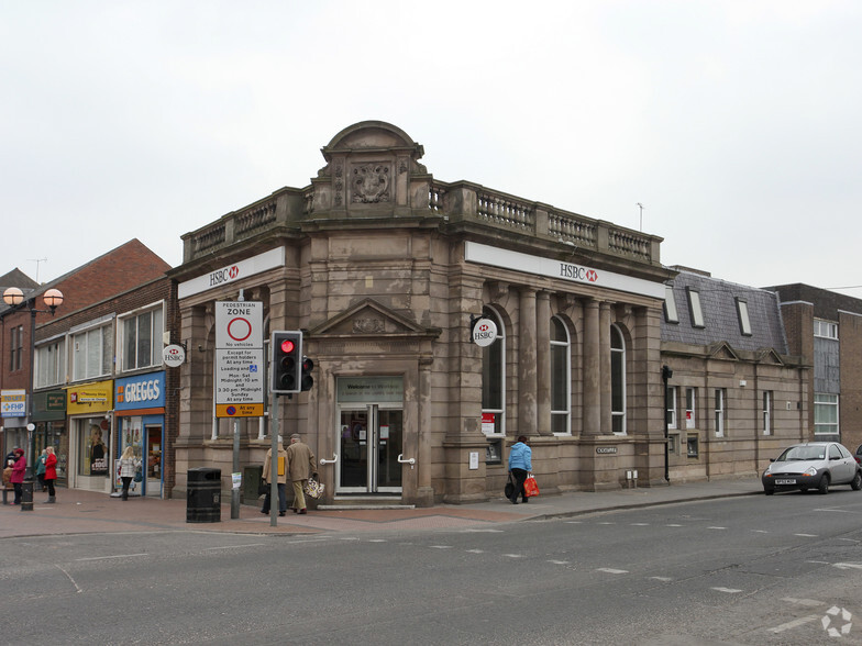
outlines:
{"label": "pale overcast sky above the rooftops", "polygon": [[862,298],[860,34],[858,0],[0,0],[0,274],[176,266],[374,119],[442,181],[640,202],[665,265]]}

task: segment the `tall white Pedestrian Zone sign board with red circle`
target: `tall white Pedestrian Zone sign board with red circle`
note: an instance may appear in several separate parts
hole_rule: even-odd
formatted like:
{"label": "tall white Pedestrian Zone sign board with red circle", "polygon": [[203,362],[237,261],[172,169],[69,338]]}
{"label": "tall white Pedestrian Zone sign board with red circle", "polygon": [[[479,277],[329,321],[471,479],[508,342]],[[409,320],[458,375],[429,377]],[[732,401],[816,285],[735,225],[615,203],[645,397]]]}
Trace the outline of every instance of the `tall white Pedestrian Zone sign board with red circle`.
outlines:
{"label": "tall white Pedestrian Zone sign board with red circle", "polygon": [[217,417],[259,417],[264,414],[263,320],[263,303],[216,303]]}

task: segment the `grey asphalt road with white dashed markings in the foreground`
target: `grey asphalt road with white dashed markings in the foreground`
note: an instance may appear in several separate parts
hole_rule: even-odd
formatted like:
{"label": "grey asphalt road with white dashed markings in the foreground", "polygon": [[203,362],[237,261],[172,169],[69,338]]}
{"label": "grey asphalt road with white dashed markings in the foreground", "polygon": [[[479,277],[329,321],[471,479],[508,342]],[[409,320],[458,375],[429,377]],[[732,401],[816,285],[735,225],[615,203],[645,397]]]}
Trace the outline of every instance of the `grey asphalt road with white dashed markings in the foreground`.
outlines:
{"label": "grey asphalt road with white dashed markings in the foreground", "polygon": [[843,488],[468,531],[9,538],[2,641],[862,644],[861,543]]}

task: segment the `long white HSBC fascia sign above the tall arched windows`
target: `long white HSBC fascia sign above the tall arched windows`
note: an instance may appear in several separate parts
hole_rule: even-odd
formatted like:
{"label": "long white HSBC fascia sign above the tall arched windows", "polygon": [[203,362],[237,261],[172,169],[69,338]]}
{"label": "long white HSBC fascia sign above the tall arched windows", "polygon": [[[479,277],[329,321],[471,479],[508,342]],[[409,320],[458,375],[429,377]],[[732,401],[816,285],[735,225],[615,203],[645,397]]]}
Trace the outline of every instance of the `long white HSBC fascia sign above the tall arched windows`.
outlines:
{"label": "long white HSBC fascia sign above the tall arched windows", "polygon": [[501,249],[475,242],[464,244],[464,259],[467,263],[502,267],[513,271],[522,271],[533,276],[561,278],[572,282],[581,282],[606,289],[616,289],[629,293],[664,300],[664,283],[623,276],[612,271],[599,271],[593,267],[584,267],[574,263],[565,263],[542,256],[531,256],[510,249]]}

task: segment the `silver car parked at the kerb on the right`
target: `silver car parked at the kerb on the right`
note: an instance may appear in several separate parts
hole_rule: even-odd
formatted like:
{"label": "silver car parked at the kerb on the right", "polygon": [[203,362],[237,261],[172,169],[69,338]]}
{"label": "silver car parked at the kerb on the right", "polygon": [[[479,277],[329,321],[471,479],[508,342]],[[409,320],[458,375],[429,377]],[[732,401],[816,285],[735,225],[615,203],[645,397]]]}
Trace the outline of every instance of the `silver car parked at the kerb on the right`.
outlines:
{"label": "silver car parked at the kerb on the right", "polygon": [[795,489],[829,493],[830,484],[862,489],[862,466],[837,442],[795,444],[770,463],[761,478],[766,495]]}

